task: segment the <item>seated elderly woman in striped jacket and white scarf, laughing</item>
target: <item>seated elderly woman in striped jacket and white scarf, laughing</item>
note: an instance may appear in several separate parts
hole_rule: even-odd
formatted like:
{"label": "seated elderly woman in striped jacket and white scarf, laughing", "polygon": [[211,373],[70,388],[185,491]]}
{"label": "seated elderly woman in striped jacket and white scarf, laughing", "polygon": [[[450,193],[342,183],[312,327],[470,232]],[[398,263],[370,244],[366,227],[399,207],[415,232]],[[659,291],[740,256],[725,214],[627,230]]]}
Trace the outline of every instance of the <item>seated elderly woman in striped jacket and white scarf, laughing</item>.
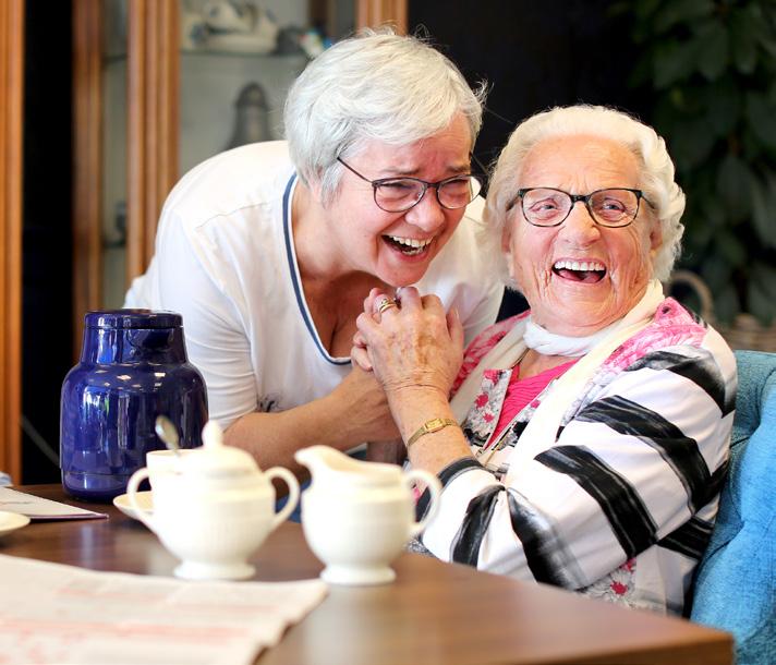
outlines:
{"label": "seated elderly woman in striped jacket and white scarf, laughing", "polygon": [[434,555],[682,612],[736,391],[722,337],[663,294],[683,208],[654,130],[608,108],[556,108],[517,128],[488,193],[530,311],[464,353],[434,295],[402,289],[379,313],[385,294],[369,294],[352,353],[383,384],[410,463],[442,482],[422,536]]}

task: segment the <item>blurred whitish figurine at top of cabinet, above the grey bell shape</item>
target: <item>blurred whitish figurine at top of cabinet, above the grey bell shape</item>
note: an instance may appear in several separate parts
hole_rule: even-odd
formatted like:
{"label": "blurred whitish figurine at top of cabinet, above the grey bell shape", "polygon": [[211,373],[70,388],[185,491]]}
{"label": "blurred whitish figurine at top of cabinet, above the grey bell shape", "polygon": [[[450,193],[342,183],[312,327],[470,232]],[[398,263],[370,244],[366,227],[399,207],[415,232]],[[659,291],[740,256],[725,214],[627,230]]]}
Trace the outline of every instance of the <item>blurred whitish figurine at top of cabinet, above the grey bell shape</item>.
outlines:
{"label": "blurred whitish figurine at top of cabinet, above the grey bell shape", "polygon": [[210,49],[270,53],[277,46],[277,22],[266,9],[248,0],[208,0],[202,15]]}

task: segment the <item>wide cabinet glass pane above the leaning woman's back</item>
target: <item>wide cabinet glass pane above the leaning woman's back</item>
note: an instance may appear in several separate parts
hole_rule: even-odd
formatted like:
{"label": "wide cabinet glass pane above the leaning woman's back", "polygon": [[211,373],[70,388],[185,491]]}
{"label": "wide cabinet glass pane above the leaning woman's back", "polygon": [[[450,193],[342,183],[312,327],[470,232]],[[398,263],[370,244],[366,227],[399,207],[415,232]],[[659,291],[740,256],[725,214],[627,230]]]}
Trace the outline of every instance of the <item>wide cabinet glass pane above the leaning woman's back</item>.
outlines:
{"label": "wide cabinet glass pane above the leaning woman's back", "polygon": [[[308,0],[181,0],[181,173],[221,150],[282,137],[288,88],[339,37],[312,9]],[[343,33],[353,29],[352,2],[347,9],[338,12]]]}

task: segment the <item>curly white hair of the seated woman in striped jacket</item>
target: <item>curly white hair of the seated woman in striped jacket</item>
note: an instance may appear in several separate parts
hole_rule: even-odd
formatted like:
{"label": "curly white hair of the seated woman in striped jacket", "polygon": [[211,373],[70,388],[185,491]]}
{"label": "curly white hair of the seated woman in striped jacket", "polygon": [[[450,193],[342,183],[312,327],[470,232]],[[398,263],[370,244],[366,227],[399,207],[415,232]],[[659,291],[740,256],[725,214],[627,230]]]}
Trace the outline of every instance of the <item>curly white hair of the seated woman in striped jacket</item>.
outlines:
{"label": "curly white hair of the seated woman in striped jacket", "polygon": [[[674,180],[674,162],[665,141],[655,130],[627,113],[603,106],[557,107],[532,116],[512,132],[498,157],[488,189],[485,220],[492,242],[500,250],[509,216],[507,206],[518,194],[518,174],[531,149],[548,138],[580,135],[616,141],[635,155],[641,165],[639,186],[654,206],[663,234],[652,276],[660,281],[667,280],[679,256],[684,232],[680,221],[684,211],[684,193]],[[519,210],[520,207],[513,209]],[[498,255],[502,256],[502,252],[499,251]],[[502,274],[507,274],[507,259],[504,256],[502,259],[500,267]],[[506,281],[509,283],[509,279]]]}

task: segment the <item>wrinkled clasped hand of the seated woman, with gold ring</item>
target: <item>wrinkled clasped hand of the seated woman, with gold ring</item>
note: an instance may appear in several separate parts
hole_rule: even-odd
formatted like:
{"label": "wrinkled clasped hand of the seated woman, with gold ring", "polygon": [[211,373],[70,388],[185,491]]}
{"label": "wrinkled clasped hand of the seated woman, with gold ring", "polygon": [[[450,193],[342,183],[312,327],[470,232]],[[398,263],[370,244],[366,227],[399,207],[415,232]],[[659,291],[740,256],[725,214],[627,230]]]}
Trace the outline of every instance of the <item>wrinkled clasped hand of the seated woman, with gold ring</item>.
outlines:
{"label": "wrinkled clasped hand of the seated woman, with gold ring", "polygon": [[436,295],[401,290],[398,307],[377,313],[385,293],[373,289],[356,319],[351,358],[373,370],[388,399],[410,388],[438,390],[447,398],[463,360],[463,327],[453,309]]}

